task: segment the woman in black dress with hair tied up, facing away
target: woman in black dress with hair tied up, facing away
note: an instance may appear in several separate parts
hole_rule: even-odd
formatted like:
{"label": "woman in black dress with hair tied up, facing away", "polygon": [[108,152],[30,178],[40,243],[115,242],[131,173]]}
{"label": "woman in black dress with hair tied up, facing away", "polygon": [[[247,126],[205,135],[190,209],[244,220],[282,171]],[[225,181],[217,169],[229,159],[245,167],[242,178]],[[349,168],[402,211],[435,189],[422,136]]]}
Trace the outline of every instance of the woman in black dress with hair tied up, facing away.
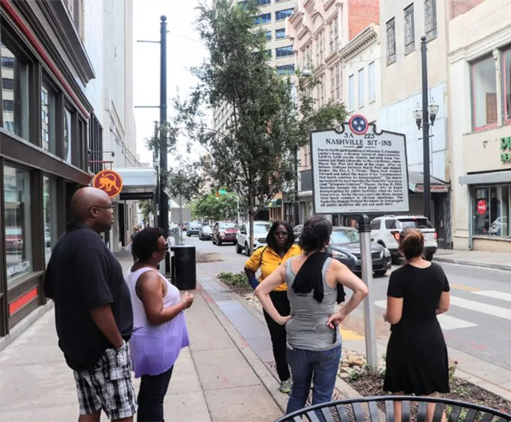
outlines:
{"label": "woman in black dress with hair tied up, facing away", "polygon": [[[449,309],[449,282],[442,267],[423,258],[419,230],[400,234],[406,264],[393,271],[387,290],[390,338],[383,389],[394,394],[436,395],[449,392],[447,345],[436,315]],[[432,420],[434,404],[428,406]],[[394,404],[401,420],[401,403]]]}

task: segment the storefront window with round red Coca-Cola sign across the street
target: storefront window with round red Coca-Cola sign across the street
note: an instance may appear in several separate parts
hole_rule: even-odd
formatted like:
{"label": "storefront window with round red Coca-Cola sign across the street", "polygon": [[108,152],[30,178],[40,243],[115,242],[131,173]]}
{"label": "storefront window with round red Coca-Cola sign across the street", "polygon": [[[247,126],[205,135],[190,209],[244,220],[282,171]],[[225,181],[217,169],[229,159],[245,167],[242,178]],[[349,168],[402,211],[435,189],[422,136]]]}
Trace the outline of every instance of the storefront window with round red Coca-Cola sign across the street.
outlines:
{"label": "storefront window with round red Coca-Cola sign across the street", "polygon": [[511,237],[510,193],[511,185],[475,188],[474,235]]}

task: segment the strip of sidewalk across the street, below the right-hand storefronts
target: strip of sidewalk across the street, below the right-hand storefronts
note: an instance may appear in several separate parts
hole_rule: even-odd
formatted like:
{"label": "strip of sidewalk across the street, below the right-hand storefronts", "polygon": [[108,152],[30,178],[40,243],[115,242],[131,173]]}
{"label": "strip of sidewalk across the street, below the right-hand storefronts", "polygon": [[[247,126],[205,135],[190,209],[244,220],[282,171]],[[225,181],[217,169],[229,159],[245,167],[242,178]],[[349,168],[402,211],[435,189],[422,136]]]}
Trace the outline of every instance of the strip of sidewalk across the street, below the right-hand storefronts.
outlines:
{"label": "strip of sidewalk across the street, below the right-hand storefronts", "polygon": [[437,262],[471,265],[511,271],[511,254],[505,252],[455,251],[439,249],[434,257]]}

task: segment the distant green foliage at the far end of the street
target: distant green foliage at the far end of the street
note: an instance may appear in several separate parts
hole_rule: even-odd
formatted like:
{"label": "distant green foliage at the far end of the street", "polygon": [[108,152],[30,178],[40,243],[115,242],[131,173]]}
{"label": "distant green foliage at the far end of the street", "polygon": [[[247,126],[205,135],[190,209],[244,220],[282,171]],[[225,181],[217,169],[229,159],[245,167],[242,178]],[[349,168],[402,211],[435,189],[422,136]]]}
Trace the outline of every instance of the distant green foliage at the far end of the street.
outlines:
{"label": "distant green foliage at the far end of the street", "polygon": [[208,193],[192,201],[191,208],[195,218],[206,221],[234,220],[237,215],[236,196],[229,192],[218,197],[216,193]]}

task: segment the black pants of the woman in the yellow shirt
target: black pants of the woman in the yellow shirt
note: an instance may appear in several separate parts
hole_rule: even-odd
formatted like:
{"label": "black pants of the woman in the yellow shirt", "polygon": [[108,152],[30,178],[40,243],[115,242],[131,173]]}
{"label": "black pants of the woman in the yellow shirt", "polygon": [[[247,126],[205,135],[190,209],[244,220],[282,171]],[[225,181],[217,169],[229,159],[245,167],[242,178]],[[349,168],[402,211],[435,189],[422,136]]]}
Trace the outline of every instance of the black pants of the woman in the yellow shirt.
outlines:
{"label": "black pants of the woman in the yellow shirt", "polygon": [[[270,292],[270,299],[275,309],[282,316],[288,316],[291,313],[287,291],[272,291]],[[270,330],[273,358],[275,359],[278,378],[281,381],[289,380],[291,374],[286,360],[286,327],[277,324],[266,311],[263,311],[263,313],[268,330]]]}

